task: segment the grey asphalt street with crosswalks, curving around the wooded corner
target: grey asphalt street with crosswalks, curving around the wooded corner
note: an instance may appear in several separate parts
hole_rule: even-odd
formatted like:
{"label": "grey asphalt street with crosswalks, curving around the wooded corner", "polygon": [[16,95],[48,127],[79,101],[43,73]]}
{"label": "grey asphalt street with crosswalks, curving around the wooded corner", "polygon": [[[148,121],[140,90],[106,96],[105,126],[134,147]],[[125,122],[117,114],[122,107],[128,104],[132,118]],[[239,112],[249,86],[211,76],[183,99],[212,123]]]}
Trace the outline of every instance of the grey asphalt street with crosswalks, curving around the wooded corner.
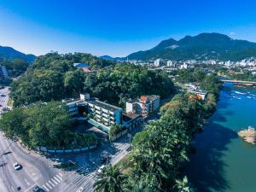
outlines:
{"label": "grey asphalt street with crosswalks, curving around the wooded corner", "polygon": [[[9,90],[0,90],[0,112],[6,108]],[[152,117],[151,119],[154,119]],[[129,153],[131,138],[142,131],[143,125],[117,141],[110,143],[100,138],[100,146],[80,154],[38,154],[23,148],[20,143],[12,142],[0,134],[0,191],[15,192],[20,187],[22,192],[32,192],[38,185],[47,192],[91,192],[96,181],[96,172],[102,164],[112,165],[122,160]],[[102,153],[108,153],[108,162],[102,163]],[[73,161],[72,170],[63,170],[63,162]],[[15,170],[13,164],[18,162],[22,169]]]}

